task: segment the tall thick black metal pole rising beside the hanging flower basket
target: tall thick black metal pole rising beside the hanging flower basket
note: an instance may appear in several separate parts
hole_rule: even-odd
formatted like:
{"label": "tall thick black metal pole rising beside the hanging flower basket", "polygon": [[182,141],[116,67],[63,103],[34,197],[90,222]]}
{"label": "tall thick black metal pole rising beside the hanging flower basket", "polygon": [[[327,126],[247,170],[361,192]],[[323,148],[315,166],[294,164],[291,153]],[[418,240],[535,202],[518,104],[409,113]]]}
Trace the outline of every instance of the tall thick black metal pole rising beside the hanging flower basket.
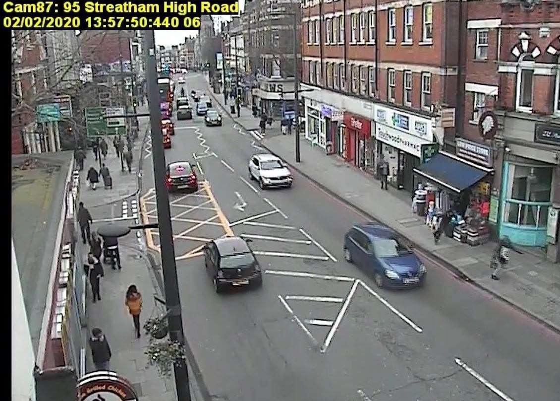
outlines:
{"label": "tall thick black metal pole rising beside the hanging flower basket", "polygon": [[[148,108],[150,109],[150,126],[152,131],[153,178],[156,186],[157,219],[160,231],[161,264],[164,274],[165,302],[170,312],[169,337],[180,344],[185,343],[183,319],[181,319],[181,301],[175,266],[175,250],[169,208],[169,194],[165,187],[165,152],[160,127],[160,103],[157,88],[156,49],[153,30],[144,31],[144,49],[146,49],[146,79],[148,82]],[[175,387],[178,401],[190,401],[189,373],[184,359],[174,364]]]}

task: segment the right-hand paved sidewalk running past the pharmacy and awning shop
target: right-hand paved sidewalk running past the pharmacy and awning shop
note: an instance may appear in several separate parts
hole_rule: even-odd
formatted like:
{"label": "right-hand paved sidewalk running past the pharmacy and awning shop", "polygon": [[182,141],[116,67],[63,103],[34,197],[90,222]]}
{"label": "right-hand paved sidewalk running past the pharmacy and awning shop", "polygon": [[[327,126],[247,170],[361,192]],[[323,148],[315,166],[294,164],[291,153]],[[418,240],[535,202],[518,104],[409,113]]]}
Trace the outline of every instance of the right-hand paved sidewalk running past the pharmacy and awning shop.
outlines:
{"label": "right-hand paved sidewalk running past the pharmacy and awning shop", "polygon": [[[223,96],[216,100],[223,101]],[[246,130],[251,129],[244,125],[244,119],[232,118]],[[525,311],[549,328],[560,331],[559,264],[552,264],[536,253],[513,253],[501,280],[494,281],[490,278],[489,266],[496,243],[471,247],[443,236],[436,246],[424,219],[412,214],[409,193],[393,188],[381,190],[379,181],[370,174],[352,167],[338,156],[326,155],[321,148],[312,147],[303,134],[302,162],[296,164],[293,142],[292,136],[267,135],[261,145],[326,191],[395,229],[412,241],[420,253],[430,255],[465,279]]]}

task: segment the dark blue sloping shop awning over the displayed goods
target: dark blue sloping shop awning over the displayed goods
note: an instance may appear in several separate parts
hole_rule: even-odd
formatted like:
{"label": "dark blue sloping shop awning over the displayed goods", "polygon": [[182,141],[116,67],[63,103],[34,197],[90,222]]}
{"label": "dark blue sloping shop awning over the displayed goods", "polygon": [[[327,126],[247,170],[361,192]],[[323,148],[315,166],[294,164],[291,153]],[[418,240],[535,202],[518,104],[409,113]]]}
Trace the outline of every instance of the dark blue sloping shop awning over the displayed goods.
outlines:
{"label": "dark blue sloping shop awning over the displayed goods", "polygon": [[413,171],[436,184],[460,193],[487,174],[493,173],[494,169],[463,161],[447,152],[440,152]]}

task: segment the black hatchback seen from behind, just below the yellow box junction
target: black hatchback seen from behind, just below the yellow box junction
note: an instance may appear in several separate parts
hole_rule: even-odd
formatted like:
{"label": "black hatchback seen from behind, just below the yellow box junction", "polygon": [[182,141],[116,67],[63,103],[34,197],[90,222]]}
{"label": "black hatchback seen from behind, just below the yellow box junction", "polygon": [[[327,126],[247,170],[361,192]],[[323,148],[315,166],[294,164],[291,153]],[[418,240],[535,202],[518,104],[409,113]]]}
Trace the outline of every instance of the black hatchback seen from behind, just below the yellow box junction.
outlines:
{"label": "black hatchback seen from behind, just below the yellow box junction", "polygon": [[204,264],[217,293],[225,287],[263,284],[259,262],[248,242],[250,239],[225,237],[204,245]]}

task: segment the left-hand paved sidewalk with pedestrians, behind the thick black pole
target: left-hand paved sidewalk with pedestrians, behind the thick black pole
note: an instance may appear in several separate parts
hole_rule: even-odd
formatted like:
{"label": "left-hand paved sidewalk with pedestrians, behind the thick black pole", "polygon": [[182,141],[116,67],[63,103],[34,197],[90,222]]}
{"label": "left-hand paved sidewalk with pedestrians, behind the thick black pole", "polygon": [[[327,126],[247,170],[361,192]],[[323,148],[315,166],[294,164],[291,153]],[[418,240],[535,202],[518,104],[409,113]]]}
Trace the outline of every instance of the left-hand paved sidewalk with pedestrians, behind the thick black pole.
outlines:
{"label": "left-hand paved sidewalk with pedestrians, behind the thick black pole", "polygon": [[[138,108],[138,112],[144,112],[145,107]],[[144,121],[142,121],[144,120]],[[107,165],[113,176],[113,189],[105,190],[103,186],[98,186],[95,191],[87,188],[85,180],[86,170],[95,162],[92,152],[87,155],[84,171],[81,174],[80,201],[90,210],[94,224],[92,231],[104,224],[113,222],[130,223],[134,225],[138,222],[138,172],[141,162],[141,146],[143,135],[146,132],[148,121],[146,118],[140,121],[140,131],[138,139],[133,147],[133,170],[128,173],[121,171],[120,160],[116,158],[115,150],[110,144],[109,154],[103,162]],[[99,164],[96,165],[99,169]],[[89,251],[87,245],[82,245],[81,238],[77,242],[81,254],[84,257]],[[104,264],[105,277],[101,279],[101,301],[92,303],[91,285],[86,283],[86,314],[88,321],[88,338],[91,329],[101,328],[106,334],[111,352],[111,370],[118,372],[126,377],[134,386],[140,401],[170,401],[176,400],[175,381],[173,376],[169,379],[162,379],[157,370],[147,367],[147,357],[144,354],[147,346],[147,338],[142,329],[142,337],[137,339],[132,317],[124,305],[124,296],[130,284],[137,285],[142,293],[143,308],[141,315],[141,325],[146,319],[155,316],[161,310],[155,309],[153,296],[165,299],[162,295],[161,286],[158,285],[155,271],[157,266],[152,266],[151,261],[161,264],[160,255],[148,257],[144,239],[137,236],[136,232],[119,239],[120,259],[122,270],[112,270],[109,265]],[[161,279],[160,279],[161,280]],[[93,370],[91,361],[91,349],[86,347],[86,372]],[[202,395],[198,390],[195,375],[190,371],[189,378],[192,399],[202,401]]]}

